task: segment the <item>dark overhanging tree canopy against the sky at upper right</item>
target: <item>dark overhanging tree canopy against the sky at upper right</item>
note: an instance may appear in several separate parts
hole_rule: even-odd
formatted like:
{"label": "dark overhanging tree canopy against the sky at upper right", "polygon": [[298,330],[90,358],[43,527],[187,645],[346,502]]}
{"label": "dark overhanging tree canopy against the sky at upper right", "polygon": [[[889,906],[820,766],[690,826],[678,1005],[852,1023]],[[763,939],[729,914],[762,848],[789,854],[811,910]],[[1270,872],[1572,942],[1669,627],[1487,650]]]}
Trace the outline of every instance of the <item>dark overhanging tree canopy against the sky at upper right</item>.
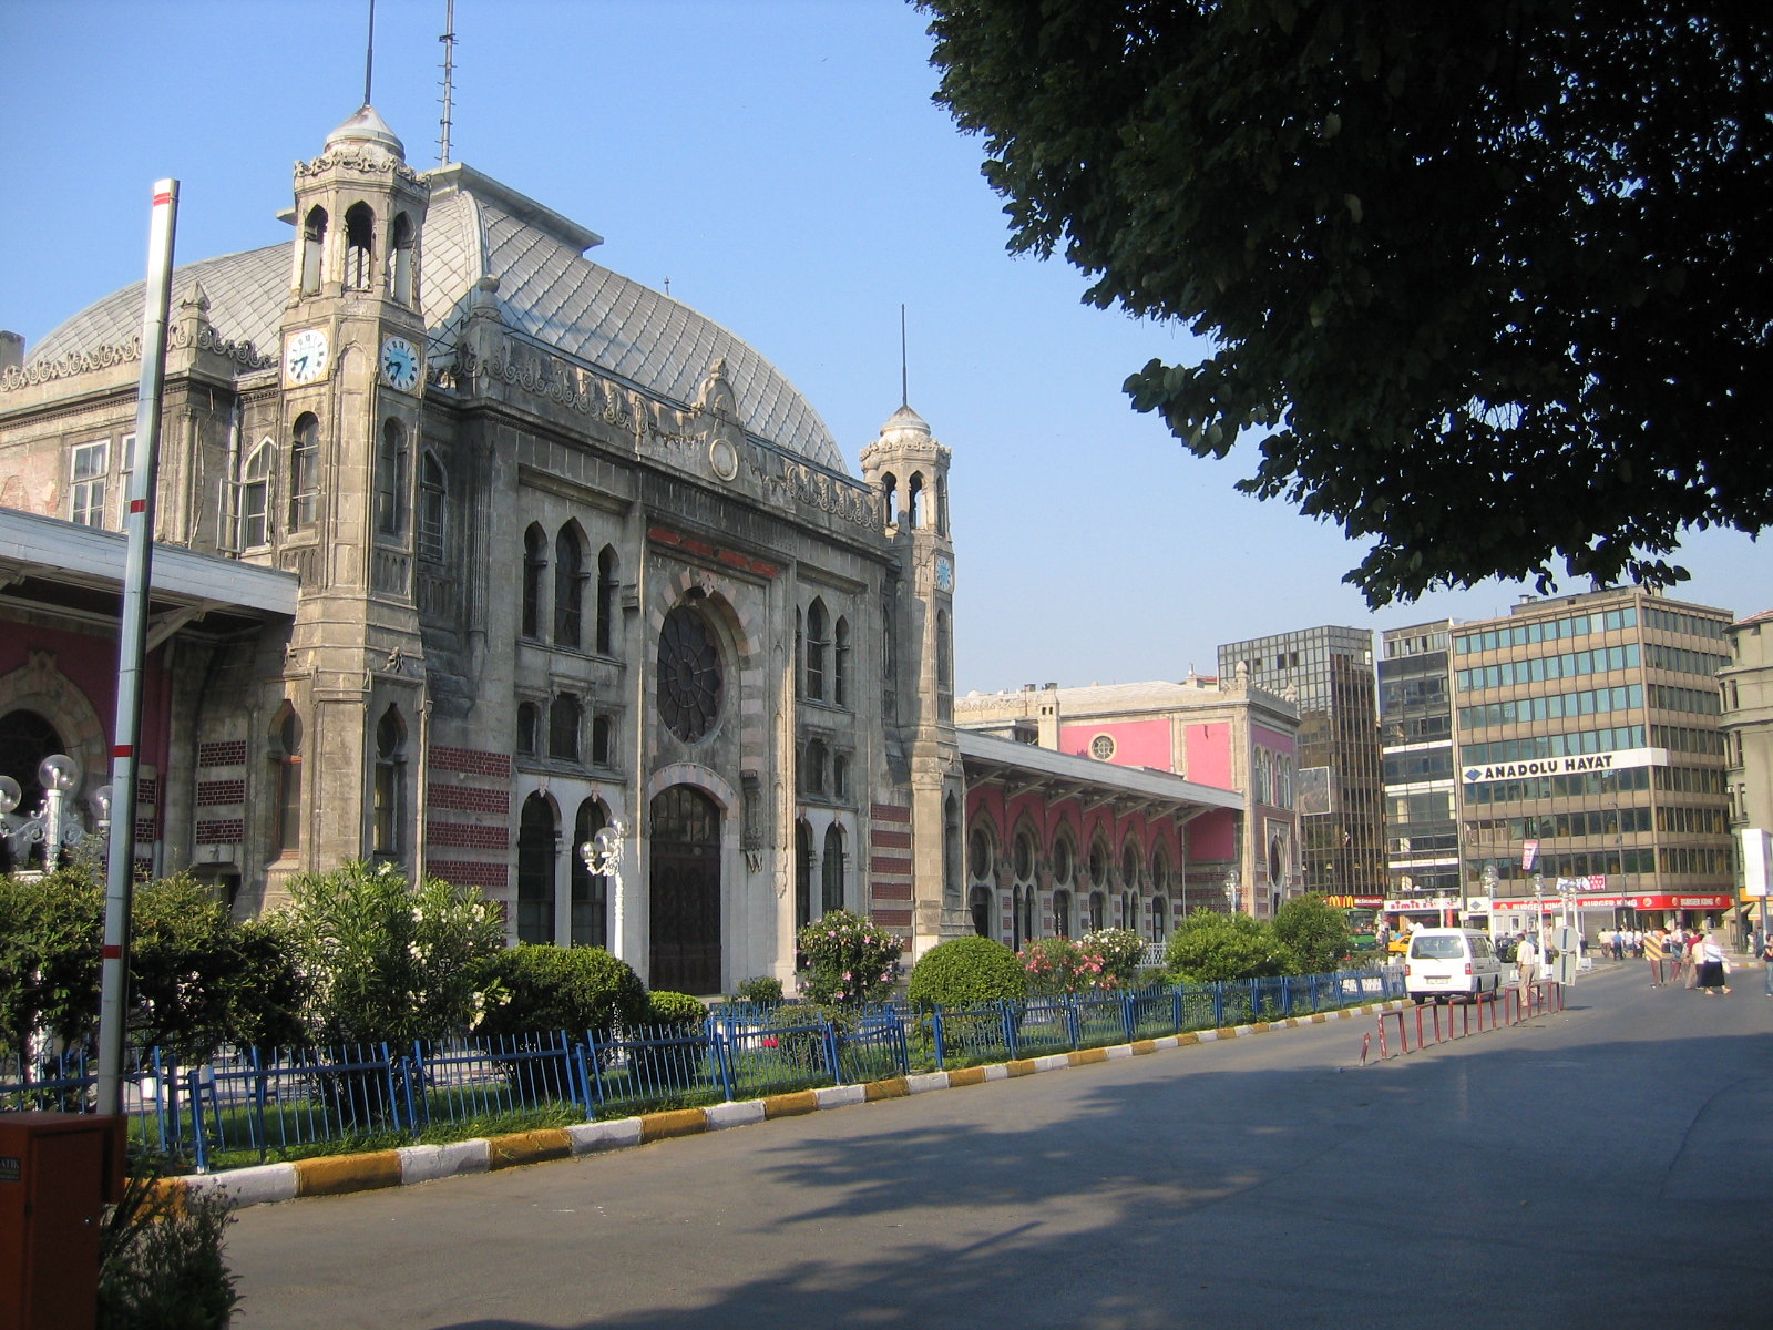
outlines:
{"label": "dark overhanging tree canopy against the sky at upper right", "polygon": [[1773,25],[1697,0],[918,0],[1011,250],[1177,319],[1126,388],[1369,605],[1670,585],[1773,523]]}

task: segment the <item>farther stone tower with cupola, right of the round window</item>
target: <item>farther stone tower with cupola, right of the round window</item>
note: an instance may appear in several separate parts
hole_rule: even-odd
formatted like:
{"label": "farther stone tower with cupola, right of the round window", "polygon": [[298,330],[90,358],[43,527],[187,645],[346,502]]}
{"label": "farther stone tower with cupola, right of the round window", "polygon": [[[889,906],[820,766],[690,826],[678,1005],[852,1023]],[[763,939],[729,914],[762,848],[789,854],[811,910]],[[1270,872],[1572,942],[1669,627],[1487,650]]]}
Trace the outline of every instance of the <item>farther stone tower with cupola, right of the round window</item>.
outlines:
{"label": "farther stone tower with cupola, right of the round window", "polygon": [[911,787],[911,947],[972,931],[965,908],[966,778],[954,731],[954,537],[947,447],[910,406],[862,450],[862,473],[899,553],[883,605],[881,674],[886,727],[897,734]]}

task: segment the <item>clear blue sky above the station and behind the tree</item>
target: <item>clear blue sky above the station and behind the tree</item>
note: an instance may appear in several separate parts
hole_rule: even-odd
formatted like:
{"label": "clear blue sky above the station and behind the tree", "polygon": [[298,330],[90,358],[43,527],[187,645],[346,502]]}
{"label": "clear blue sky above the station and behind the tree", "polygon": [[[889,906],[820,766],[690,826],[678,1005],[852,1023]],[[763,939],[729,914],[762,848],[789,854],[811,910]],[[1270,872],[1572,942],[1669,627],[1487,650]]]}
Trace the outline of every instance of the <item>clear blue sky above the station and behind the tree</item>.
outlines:
{"label": "clear blue sky above the station and behind the tree", "polygon": [[[291,163],[363,92],[362,0],[0,0],[0,328],[39,340],[142,277],[181,181],[179,259],[278,241]],[[378,4],[374,103],[436,161],[443,0]],[[1323,622],[1502,614],[1521,587],[1369,615],[1363,550],[1232,491],[1121,381],[1190,339],[1011,259],[982,147],[931,105],[899,0],[457,0],[452,156],[605,238],[605,266],[738,332],[856,454],[910,397],[954,449],[956,685],[1181,677]],[[1773,541],[1695,536],[1675,594],[1773,608]]]}

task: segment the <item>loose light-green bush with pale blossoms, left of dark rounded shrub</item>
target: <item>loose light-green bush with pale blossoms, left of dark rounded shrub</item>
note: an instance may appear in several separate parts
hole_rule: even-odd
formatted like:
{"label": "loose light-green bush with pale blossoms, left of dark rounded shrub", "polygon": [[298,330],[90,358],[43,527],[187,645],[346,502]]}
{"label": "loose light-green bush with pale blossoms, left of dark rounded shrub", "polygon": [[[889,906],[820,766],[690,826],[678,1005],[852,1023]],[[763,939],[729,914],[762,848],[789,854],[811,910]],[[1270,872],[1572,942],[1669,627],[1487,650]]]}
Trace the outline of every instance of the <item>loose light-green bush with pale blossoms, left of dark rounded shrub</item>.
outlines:
{"label": "loose light-green bush with pale blossoms, left of dark rounded shrub", "polygon": [[316,1043],[404,1043],[473,1025],[482,963],[505,945],[496,903],[363,860],[298,874],[289,896]]}

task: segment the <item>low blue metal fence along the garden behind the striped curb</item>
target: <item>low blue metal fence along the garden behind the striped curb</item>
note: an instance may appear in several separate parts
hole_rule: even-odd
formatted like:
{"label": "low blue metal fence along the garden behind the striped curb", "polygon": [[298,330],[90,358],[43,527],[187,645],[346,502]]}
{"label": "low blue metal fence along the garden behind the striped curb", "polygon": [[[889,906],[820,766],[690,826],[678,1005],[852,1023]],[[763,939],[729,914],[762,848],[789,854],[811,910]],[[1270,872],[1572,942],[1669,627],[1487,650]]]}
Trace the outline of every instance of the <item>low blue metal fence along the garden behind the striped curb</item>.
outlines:
{"label": "low blue metal fence along the garden behind the striped curb", "polygon": [[[1177,984],[910,1013],[885,1004],[833,1023],[784,1004],[718,1004],[702,1025],[619,1032],[461,1036],[410,1046],[225,1050],[179,1068],[133,1057],[133,1135],[199,1170],[328,1146],[394,1146],[475,1123],[580,1121],[660,1107],[748,1099],[1064,1053],[1250,1020],[1401,997],[1394,968]],[[0,1066],[0,1110],[89,1108],[96,1075],[82,1053]]]}

